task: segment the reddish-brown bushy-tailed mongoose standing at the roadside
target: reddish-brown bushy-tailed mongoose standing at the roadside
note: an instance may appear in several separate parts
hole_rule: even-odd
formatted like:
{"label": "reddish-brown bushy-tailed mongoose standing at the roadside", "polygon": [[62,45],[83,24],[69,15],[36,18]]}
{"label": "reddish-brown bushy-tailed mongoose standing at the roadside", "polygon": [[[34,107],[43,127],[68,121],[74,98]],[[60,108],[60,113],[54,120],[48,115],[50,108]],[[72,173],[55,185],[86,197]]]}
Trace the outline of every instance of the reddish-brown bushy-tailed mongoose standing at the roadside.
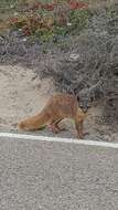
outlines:
{"label": "reddish-brown bushy-tailed mongoose standing at the roadside", "polygon": [[72,118],[77,130],[77,138],[83,138],[83,123],[90,104],[82,103],[75,95],[58,93],[50,97],[44,108],[36,115],[18,123],[18,128],[23,130],[36,130],[49,126],[53,133],[65,130],[60,127],[64,118]]}

